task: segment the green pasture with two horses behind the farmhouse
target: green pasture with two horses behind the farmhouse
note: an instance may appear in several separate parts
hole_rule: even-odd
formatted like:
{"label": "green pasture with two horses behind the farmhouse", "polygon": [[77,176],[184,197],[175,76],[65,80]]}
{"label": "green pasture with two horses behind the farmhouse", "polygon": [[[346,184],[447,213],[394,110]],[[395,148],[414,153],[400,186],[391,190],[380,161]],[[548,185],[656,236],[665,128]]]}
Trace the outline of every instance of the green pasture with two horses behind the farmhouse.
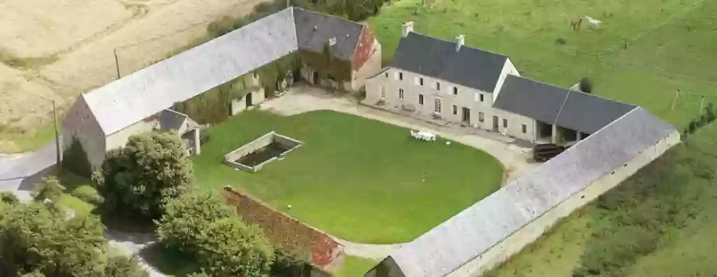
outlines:
{"label": "green pasture with two horses behind the farmhouse", "polygon": [[[589,77],[594,93],[641,105],[675,125],[698,114],[697,94],[717,100],[717,2],[435,0],[416,9],[421,1],[398,1],[369,20],[386,61],[402,22],[415,21],[419,33],[450,41],[465,34],[467,45],[508,54],[526,77],[561,86]],[[584,15],[602,20],[601,28],[572,31],[571,19]],[[672,110],[678,89],[695,94]]]}

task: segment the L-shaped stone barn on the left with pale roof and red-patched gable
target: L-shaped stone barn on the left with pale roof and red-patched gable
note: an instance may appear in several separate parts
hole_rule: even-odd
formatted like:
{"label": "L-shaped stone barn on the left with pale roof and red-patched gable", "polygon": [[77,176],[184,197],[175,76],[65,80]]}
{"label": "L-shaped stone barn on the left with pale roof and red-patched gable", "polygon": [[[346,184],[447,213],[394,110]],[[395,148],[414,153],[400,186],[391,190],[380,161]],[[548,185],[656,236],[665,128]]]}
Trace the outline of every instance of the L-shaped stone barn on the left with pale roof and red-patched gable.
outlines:
{"label": "L-shaped stone barn on the left with pale roof and red-patched gable", "polygon": [[[244,75],[258,85],[257,69],[290,54],[302,64],[288,76],[336,89],[360,89],[381,69],[381,46],[368,26],[291,7],[81,94],[62,122],[63,145],[67,149],[78,140],[98,168],[105,153],[124,146],[131,135],[171,130],[199,153],[199,125],[167,109]],[[227,113],[272,97],[266,90],[259,87],[234,99]]]}

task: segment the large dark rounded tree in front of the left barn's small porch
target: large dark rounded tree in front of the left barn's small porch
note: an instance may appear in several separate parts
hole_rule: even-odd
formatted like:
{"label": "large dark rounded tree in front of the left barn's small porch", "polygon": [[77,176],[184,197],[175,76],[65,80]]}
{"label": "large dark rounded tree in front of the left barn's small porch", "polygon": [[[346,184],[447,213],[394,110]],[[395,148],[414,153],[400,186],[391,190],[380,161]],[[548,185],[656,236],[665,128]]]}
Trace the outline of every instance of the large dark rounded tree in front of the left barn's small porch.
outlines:
{"label": "large dark rounded tree in front of the left barn's small porch", "polygon": [[189,155],[176,133],[148,132],[108,152],[92,179],[105,198],[105,210],[151,220],[160,217],[163,199],[189,187],[191,174]]}

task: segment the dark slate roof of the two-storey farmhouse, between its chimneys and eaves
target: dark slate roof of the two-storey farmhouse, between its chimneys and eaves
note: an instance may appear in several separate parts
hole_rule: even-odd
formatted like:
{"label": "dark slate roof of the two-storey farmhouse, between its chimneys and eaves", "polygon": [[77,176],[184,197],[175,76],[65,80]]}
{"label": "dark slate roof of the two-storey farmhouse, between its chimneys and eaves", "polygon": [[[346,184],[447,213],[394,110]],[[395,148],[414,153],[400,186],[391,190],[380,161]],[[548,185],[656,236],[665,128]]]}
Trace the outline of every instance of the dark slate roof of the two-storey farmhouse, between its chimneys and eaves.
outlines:
{"label": "dark slate roof of the two-storey farmhouse, between its chimneys and eaves", "polygon": [[493,92],[508,57],[410,32],[399,42],[390,67]]}

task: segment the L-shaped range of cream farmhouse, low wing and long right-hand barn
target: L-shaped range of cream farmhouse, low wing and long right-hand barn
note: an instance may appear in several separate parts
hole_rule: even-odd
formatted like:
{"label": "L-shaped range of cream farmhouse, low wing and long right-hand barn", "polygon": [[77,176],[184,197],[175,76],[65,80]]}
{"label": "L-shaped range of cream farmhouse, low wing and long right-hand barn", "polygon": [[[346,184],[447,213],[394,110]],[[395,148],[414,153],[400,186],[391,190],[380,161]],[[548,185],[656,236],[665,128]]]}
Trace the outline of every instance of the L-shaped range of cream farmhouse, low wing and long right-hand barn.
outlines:
{"label": "L-shaped range of cream farmhouse, low wing and long right-hand barn", "polygon": [[366,104],[576,144],[405,244],[366,277],[480,276],[680,142],[675,127],[641,107],[520,77],[508,57],[411,27],[404,25],[391,65],[370,78]]}

